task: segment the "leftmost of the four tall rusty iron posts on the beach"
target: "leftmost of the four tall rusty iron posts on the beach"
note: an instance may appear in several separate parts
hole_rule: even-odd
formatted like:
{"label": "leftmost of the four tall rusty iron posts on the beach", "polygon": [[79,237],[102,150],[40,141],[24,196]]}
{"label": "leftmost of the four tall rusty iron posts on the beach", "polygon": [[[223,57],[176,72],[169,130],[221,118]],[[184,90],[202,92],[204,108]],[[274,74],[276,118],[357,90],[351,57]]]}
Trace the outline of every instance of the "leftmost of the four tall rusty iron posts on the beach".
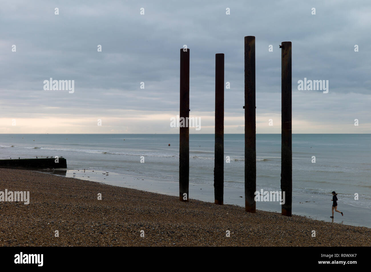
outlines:
{"label": "leftmost of the four tall rusty iron posts on the beach", "polygon": [[[189,111],[189,48],[182,48],[180,49],[179,200],[187,202],[189,199],[189,127],[186,120],[189,118]],[[182,118],[184,118],[183,122],[181,122]]]}

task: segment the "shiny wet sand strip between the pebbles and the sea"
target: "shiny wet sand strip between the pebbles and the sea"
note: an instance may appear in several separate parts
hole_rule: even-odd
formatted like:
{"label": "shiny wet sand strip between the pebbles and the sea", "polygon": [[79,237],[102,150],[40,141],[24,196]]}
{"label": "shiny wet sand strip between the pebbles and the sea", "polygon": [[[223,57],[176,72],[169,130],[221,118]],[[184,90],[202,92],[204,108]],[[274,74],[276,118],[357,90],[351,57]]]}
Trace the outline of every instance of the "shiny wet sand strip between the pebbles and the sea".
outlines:
{"label": "shiny wet sand strip between the pebbles and the sea", "polygon": [[[63,177],[73,177],[104,184],[134,188],[145,192],[160,193],[162,195],[178,196],[179,183],[163,181],[141,175],[128,175],[122,173],[109,172],[103,175],[100,170],[53,170],[46,173],[62,175]],[[212,185],[192,183],[189,184],[190,198],[214,203],[214,187]],[[344,212],[344,216],[335,213],[335,219],[331,219],[331,197],[310,195],[305,193],[293,192],[292,207],[293,214],[305,216],[310,219],[322,220],[325,222],[335,222],[351,226],[364,226],[371,228],[370,209],[362,206],[352,206],[339,201],[339,210]],[[244,188],[234,188],[224,186],[224,204],[237,205],[244,208]],[[257,202],[256,208],[262,211],[281,213],[281,206],[278,202]]]}

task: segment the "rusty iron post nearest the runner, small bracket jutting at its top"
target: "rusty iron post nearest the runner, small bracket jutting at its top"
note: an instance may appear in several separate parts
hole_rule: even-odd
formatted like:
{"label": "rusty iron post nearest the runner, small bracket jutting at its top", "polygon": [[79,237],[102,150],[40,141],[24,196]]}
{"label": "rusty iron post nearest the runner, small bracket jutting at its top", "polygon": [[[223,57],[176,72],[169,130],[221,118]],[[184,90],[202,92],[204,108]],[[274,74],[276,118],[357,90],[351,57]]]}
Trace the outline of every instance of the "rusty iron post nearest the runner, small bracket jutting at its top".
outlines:
{"label": "rusty iron post nearest the runner, small bracket jutting at its top", "polygon": [[292,209],[292,70],[291,42],[282,42],[281,52],[281,191],[285,192],[282,215]]}

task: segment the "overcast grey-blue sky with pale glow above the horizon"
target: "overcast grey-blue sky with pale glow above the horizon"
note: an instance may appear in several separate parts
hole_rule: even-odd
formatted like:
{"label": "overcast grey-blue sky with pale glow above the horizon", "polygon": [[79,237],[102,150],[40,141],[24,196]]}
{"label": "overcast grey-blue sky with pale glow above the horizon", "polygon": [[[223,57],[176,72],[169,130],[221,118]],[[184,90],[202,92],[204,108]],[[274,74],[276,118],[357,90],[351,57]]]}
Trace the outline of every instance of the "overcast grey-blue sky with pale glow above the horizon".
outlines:
{"label": "overcast grey-blue sky with pale glow above the horizon", "polygon": [[[368,0],[2,1],[0,133],[178,133],[184,44],[190,116],[201,119],[190,133],[214,133],[216,53],[230,82],[224,132],[244,133],[244,36],[256,37],[257,133],[281,131],[284,41],[293,133],[371,133],[370,14]],[[44,90],[50,77],[74,80],[74,92]],[[329,92],[298,90],[305,77],[329,80]]]}

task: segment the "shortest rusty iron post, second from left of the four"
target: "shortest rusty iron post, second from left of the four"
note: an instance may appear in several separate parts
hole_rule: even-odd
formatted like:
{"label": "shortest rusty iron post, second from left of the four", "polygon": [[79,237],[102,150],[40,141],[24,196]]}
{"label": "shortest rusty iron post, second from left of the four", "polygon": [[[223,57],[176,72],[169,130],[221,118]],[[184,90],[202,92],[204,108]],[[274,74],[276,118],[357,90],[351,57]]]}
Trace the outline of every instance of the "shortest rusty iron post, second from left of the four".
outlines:
{"label": "shortest rusty iron post, second from left of the four", "polygon": [[215,54],[215,204],[223,205],[224,192],[224,54]]}

